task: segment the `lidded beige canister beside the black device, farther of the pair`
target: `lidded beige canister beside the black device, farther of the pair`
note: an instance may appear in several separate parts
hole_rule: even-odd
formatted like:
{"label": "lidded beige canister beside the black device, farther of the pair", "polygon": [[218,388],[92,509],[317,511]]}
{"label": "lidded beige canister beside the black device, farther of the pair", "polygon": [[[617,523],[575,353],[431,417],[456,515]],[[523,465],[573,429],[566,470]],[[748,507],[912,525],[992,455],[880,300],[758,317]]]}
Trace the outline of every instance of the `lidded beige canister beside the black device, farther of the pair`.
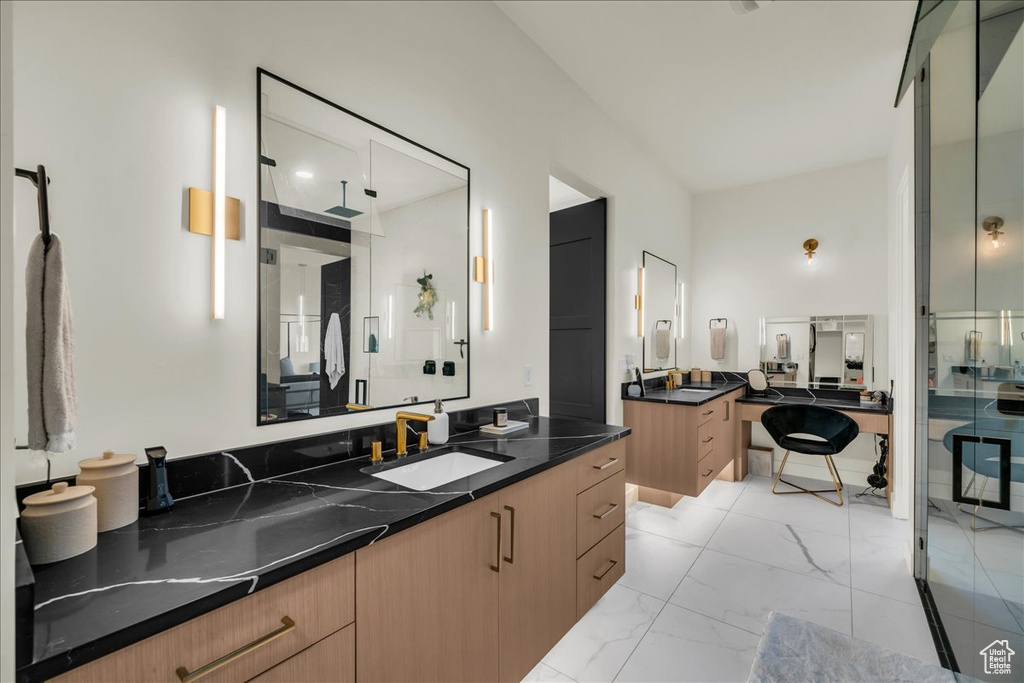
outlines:
{"label": "lidded beige canister beside the black device, farther of the pair", "polygon": [[104,451],[100,458],[78,463],[82,472],[75,479],[80,486],[94,486],[96,528],[110,531],[138,519],[138,467],[135,456],[119,456]]}

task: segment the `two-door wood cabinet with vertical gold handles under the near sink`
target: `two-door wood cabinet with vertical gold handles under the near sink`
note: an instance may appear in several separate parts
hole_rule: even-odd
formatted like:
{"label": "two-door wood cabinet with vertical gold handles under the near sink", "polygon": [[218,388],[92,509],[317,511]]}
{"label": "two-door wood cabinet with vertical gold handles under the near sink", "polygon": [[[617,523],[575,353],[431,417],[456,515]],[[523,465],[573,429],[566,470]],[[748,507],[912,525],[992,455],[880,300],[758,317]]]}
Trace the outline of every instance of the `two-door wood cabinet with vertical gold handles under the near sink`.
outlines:
{"label": "two-door wood cabinet with vertical gold handles under the near sink", "polygon": [[575,622],[566,463],[356,551],[359,681],[519,681]]}

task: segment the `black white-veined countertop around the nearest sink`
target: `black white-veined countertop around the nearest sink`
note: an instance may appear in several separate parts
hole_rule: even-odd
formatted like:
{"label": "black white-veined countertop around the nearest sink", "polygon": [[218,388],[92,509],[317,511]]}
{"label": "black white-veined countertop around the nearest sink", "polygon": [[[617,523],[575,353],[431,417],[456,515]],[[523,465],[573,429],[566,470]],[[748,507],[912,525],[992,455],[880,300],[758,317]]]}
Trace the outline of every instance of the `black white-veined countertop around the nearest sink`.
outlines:
{"label": "black white-veined countertop around the nearest sink", "polygon": [[170,513],[99,535],[83,555],[34,567],[36,651],[19,679],[58,675],[630,434],[527,419],[507,437],[474,431],[436,446],[512,460],[423,493],[362,473],[367,457],[257,479],[230,456],[243,483],[179,499]]}

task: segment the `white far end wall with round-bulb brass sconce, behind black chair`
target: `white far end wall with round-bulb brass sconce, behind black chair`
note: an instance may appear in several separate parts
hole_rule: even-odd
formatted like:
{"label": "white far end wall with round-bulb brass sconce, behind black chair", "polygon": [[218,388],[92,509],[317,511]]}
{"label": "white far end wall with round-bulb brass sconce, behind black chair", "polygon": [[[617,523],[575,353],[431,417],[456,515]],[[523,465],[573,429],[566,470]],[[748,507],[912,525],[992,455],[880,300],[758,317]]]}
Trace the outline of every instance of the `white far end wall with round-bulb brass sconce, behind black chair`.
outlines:
{"label": "white far end wall with round-bulb brass sconce, behind black chair", "polygon": [[[887,182],[887,162],[879,159],[695,196],[693,365],[756,368],[763,316],[871,314],[874,384],[888,389]],[[808,238],[819,243],[813,267],[801,247]],[[712,317],[729,318],[721,362],[711,358]],[[753,438],[772,445],[760,425]],[[870,472],[872,441],[861,435],[836,459],[851,484]],[[825,476],[820,459],[808,460],[806,469],[795,461],[794,474]]]}

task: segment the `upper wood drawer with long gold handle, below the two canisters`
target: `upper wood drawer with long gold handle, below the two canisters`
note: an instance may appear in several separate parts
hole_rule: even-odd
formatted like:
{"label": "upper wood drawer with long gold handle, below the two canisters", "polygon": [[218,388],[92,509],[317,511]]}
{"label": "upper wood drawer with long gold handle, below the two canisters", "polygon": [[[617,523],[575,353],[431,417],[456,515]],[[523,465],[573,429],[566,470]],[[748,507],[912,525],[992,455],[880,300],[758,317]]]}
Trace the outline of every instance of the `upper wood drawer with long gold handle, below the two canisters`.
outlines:
{"label": "upper wood drawer with long gold handle, below the two canisters", "polygon": [[[180,683],[179,668],[196,673],[228,653],[255,645],[202,677],[203,683],[249,680],[355,620],[354,558],[354,554],[347,555],[305,571],[55,680]],[[280,637],[257,644],[281,631]]]}

